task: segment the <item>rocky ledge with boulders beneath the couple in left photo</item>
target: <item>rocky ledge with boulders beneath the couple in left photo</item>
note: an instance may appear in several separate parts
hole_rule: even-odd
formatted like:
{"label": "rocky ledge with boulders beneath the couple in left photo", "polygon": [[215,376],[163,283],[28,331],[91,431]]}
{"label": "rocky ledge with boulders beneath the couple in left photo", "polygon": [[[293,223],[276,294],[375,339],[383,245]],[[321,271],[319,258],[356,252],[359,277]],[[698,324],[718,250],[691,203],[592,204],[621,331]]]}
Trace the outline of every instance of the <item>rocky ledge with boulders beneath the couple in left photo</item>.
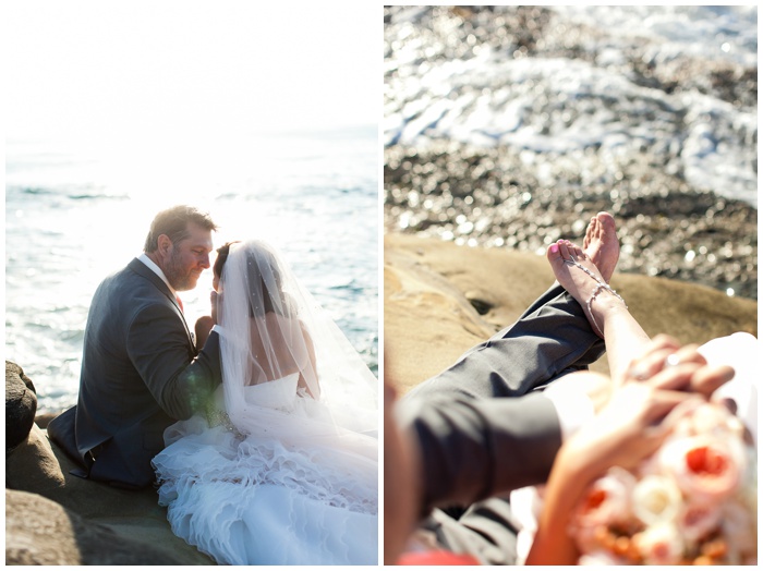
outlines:
{"label": "rocky ledge with boulders beneath the couple in left photo", "polygon": [[32,380],[7,361],[5,564],[215,564],[172,533],[156,490],[69,474],[36,408]]}

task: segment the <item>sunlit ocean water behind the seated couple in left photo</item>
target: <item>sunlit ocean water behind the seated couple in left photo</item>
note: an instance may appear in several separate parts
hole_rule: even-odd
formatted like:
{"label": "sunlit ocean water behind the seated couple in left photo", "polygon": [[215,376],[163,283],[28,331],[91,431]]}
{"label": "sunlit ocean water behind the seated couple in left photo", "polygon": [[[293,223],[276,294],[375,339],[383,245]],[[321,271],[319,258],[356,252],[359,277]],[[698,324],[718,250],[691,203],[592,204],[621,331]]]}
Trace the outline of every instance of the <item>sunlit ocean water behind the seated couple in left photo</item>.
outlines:
{"label": "sunlit ocean water behind the seated couple in left photo", "polygon": [[[76,402],[82,342],[100,280],[142,252],[154,215],[197,205],[215,245],[276,244],[366,364],[378,365],[378,135],[375,126],[241,136],[167,149],[7,141],[5,359],[38,411]],[[211,270],[183,292],[208,314]]]}

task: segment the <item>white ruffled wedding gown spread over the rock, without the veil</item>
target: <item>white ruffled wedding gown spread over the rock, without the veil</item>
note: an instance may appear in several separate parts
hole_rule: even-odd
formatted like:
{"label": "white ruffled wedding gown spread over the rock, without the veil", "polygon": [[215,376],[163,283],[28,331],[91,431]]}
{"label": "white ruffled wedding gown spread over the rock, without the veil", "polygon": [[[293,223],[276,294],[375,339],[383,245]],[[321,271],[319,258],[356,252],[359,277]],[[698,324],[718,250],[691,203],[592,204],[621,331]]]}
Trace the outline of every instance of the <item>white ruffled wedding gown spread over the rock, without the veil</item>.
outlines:
{"label": "white ruffled wedding gown spread over the rock, without the veil", "polygon": [[336,426],[296,382],[244,387],[258,413],[247,436],[221,412],[221,390],[217,426],[194,416],[168,428],[159,503],[218,563],[377,564],[377,439]]}

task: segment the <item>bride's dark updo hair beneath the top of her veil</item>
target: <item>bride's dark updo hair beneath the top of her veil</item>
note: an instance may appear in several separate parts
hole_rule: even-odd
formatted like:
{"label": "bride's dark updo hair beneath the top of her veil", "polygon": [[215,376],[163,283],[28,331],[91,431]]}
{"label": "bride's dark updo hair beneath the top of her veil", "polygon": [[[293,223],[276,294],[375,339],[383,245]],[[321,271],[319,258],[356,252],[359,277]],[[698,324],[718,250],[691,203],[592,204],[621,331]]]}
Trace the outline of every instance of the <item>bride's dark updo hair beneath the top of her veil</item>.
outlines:
{"label": "bride's dark updo hair beneath the top of her veil", "polygon": [[[240,242],[228,242],[217,250],[213,271],[219,279],[222,279],[230,247],[237,243]],[[259,317],[268,313],[287,317],[295,316],[295,304],[291,296],[283,291],[279,265],[272,252],[257,242],[247,242],[239,247],[245,248],[246,277],[250,287],[250,317]]]}

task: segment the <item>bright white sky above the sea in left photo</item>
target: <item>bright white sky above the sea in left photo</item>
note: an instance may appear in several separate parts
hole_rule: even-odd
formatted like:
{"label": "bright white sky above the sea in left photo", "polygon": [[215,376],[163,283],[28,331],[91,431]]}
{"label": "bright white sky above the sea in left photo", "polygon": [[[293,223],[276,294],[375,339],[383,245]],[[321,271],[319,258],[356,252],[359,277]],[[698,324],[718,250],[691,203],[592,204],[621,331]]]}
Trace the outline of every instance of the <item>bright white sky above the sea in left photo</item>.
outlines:
{"label": "bright white sky above the sea in left photo", "polygon": [[375,124],[382,5],[341,4],[4,2],[5,135],[165,147]]}

